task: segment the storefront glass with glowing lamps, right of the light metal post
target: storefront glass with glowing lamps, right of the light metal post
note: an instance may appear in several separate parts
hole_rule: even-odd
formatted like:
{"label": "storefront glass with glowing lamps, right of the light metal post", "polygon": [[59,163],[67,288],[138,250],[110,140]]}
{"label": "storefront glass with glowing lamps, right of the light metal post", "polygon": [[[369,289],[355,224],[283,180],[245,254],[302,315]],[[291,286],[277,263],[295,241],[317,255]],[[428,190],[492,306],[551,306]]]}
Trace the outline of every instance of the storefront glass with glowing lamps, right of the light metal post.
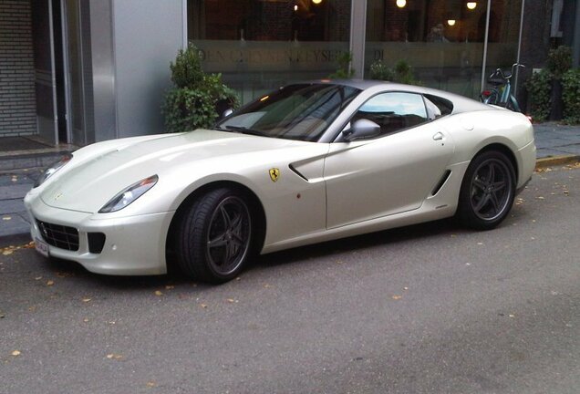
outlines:
{"label": "storefront glass with glowing lamps, right of the light metal post", "polygon": [[[486,75],[516,61],[521,0],[493,0]],[[368,0],[366,75],[401,59],[431,88],[477,98],[482,84],[487,1]]]}

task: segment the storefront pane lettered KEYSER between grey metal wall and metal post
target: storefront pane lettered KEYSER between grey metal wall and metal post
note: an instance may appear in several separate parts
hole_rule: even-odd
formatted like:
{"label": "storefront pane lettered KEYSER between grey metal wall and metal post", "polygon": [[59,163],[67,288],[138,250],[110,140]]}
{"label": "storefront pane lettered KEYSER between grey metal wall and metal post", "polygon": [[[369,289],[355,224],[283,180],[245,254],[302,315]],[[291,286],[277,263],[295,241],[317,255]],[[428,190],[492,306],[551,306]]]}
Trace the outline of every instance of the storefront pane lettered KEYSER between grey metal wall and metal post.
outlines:
{"label": "storefront pane lettered KEYSER between grey metal wall and metal post", "polygon": [[203,68],[242,101],[288,81],[326,78],[348,51],[350,0],[188,0]]}

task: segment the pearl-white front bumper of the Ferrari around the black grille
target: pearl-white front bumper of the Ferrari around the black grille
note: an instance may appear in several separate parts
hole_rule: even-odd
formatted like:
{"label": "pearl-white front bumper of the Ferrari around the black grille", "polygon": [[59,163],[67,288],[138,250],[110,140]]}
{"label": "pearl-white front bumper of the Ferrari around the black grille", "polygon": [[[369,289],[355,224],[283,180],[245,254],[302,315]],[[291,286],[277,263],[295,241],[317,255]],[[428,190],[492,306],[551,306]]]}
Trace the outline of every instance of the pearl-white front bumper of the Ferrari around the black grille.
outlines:
{"label": "pearl-white front bumper of the Ferrari around the black grille", "polygon": [[[48,254],[72,260],[88,271],[105,275],[161,275],[167,272],[165,244],[173,212],[101,219],[98,214],[68,211],[48,206],[39,196],[28,194],[25,206],[30,216],[32,239],[47,241],[37,221],[78,230],[78,250],[48,245]],[[104,233],[100,253],[88,248],[88,233]]]}

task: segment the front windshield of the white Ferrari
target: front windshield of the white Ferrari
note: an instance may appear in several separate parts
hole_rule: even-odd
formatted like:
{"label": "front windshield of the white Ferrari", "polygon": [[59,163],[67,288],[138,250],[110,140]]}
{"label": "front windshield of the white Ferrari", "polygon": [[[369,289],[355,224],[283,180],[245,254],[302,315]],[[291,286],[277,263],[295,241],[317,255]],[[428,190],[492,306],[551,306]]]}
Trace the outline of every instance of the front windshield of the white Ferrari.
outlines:
{"label": "front windshield of the white Ferrari", "polygon": [[290,85],[235,111],[216,129],[316,141],[358,93],[360,89],[343,85]]}

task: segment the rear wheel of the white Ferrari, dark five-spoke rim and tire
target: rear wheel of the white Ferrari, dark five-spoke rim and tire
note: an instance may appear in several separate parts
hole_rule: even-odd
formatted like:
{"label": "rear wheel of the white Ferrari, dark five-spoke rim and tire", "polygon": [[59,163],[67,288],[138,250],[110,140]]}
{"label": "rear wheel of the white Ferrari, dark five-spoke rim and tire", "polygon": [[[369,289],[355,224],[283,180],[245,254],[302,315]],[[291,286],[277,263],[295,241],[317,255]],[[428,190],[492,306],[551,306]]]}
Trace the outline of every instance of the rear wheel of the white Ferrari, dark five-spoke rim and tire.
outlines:
{"label": "rear wheel of the white Ferrari, dark five-spoke rim and tire", "polygon": [[461,182],[458,218],[472,229],[491,230],[510,213],[515,171],[505,154],[488,150],[470,163]]}

